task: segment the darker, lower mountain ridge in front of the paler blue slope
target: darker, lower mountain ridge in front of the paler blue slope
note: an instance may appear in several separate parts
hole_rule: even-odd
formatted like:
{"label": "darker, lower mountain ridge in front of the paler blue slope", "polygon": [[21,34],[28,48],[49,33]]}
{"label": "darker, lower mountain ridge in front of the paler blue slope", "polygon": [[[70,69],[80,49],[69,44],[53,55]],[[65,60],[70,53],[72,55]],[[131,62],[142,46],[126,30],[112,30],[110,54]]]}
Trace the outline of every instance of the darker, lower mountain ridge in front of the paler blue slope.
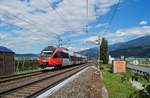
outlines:
{"label": "darker, lower mountain ridge in front of the paler blue slope", "polygon": [[116,58],[121,56],[150,57],[150,45],[114,50],[110,52],[110,55]]}

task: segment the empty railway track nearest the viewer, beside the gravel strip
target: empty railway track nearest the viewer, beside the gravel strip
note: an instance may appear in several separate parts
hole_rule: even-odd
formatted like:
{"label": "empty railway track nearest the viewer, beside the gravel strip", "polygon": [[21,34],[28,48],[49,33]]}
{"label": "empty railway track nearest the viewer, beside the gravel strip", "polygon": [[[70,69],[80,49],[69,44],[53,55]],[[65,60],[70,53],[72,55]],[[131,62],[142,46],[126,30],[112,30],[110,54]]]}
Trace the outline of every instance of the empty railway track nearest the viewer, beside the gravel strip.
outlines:
{"label": "empty railway track nearest the viewer, beside the gravel strip", "polygon": [[34,98],[48,88],[81,71],[86,66],[75,66],[60,71],[40,74],[36,77],[31,76],[32,78],[30,79],[28,79],[29,77],[25,78],[26,81],[16,79],[11,82],[0,83],[0,98]]}

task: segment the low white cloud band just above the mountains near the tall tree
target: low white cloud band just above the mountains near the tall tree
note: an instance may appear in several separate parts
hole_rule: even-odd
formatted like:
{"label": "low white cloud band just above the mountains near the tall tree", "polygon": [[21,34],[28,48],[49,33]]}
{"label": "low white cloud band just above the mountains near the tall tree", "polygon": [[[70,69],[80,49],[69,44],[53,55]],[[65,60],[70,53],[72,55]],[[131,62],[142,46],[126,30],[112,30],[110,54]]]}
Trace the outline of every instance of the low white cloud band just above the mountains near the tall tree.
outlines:
{"label": "low white cloud band just above the mountains near the tall tree", "polygon": [[[150,26],[142,26],[142,27],[133,27],[128,29],[119,29],[115,32],[109,32],[106,34],[101,34],[101,37],[105,37],[109,44],[114,44],[118,42],[124,42],[130,40],[128,38],[136,38],[150,35]],[[87,42],[95,42],[98,39],[97,36],[93,36],[90,38],[82,39],[82,41]]]}

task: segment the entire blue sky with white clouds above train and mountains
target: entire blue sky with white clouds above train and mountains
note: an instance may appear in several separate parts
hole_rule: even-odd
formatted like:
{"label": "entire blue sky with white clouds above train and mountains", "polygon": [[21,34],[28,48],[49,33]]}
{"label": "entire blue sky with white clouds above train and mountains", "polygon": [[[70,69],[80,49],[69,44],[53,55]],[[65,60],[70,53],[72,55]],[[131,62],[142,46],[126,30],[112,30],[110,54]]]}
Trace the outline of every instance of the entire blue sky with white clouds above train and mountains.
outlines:
{"label": "entire blue sky with white clouds above train and mountains", "polygon": [[[150,35],[150,0],[0,0],[0,46],[40,53],[48,45],[74,51]],[[11,2],[11,3],[10,3]],[[88,8],[88,9],[87,9]]]}

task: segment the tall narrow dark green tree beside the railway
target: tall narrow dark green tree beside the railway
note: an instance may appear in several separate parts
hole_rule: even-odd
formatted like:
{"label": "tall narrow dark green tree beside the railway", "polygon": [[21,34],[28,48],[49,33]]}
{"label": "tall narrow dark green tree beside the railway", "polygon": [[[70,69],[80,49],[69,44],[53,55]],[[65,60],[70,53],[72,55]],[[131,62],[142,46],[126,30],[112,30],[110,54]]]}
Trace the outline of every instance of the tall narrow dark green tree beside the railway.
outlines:
{"label": "tall narrow dark green tree beside the railway", "polygon": [[108,64],[109,61],[108,42],[105,38],[102,39],[100,45],[100,60],[102,60],[104,64]]}

